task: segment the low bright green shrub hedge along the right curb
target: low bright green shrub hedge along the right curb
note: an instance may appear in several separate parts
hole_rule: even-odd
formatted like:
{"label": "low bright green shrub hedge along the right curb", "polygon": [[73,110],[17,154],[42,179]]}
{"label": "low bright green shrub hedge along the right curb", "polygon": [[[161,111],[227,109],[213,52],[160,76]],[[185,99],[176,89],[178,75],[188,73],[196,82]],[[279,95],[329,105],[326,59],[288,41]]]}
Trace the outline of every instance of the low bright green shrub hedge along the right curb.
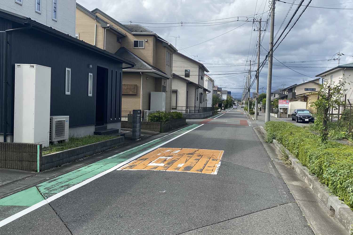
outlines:
{"label": "low bright green shrub hedge along the right curb", "polygon": [[315,174],[321,183],[353,209],[353,147],[334,141],[322,143],[310,130],[288,122],[265,124],[266,141],[275,139]]}

